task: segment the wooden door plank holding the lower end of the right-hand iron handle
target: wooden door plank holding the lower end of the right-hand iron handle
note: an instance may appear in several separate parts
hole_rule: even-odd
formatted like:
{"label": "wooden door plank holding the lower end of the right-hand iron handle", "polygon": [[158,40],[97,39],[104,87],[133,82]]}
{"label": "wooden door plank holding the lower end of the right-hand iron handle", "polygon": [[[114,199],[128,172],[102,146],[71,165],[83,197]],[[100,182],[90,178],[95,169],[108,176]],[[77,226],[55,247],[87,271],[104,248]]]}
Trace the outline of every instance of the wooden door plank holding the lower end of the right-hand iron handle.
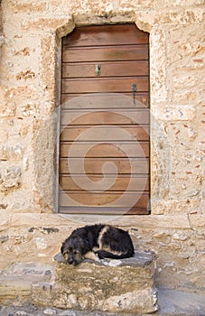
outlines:
{"label": "wooden door plank holding the lower end of the right-hand iron handle", "polygon": [[122,93],[88,93],[88,94],[61,94],[61,108],[122,108],[122,107],[149,107],[149,93],[135,94]]}

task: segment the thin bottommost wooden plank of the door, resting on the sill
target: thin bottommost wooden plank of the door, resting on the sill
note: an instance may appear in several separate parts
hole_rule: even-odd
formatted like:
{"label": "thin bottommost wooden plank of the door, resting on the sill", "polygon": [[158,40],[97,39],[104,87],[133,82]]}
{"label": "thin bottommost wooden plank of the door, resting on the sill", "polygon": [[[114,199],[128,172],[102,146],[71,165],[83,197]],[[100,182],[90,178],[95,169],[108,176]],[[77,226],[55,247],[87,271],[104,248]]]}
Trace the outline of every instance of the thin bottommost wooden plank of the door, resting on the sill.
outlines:
{"label": "thin bottommost wooden plank of the door, resting on the sill", "polygon": [[93,207],[61,207],[59,212],[62,214],[92,214],[92,215],[148,215],[150,209],[148,208],[93,208]]}

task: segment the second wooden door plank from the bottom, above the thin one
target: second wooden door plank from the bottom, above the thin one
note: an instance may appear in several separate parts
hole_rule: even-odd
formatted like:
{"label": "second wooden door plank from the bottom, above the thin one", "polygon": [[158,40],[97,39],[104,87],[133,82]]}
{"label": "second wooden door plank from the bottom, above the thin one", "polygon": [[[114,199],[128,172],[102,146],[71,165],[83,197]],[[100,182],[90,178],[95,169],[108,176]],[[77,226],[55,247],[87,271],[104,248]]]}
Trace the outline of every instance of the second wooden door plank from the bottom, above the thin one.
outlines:
{"label": "second wooden door plank from the bottom, above the thin one", "polygon": [[[89,191],[60,191],[60,205],[98,207],[134,207],[146,208],[149,202],[148,192],[89,192]],[[107,205],[108,204],[108,205]]]}

